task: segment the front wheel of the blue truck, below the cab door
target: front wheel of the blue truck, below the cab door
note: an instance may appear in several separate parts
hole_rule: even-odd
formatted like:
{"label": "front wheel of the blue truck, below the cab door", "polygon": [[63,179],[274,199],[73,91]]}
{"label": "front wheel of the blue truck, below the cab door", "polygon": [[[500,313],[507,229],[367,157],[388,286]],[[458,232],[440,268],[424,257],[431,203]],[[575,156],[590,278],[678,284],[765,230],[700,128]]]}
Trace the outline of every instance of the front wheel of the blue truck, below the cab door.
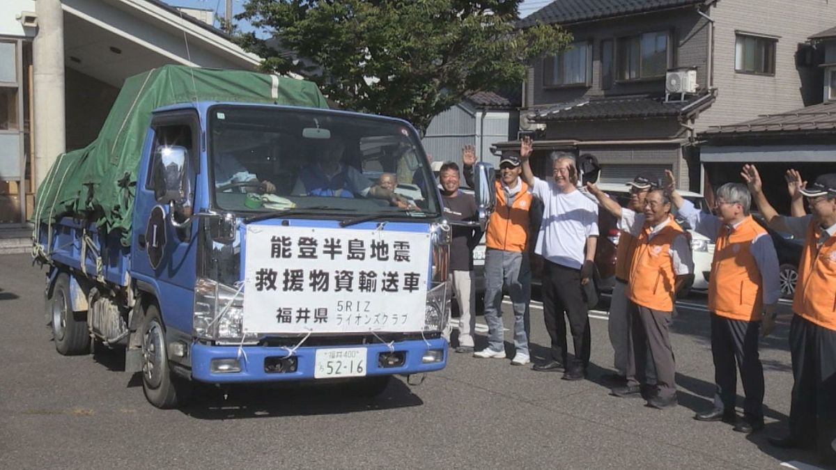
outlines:
{"label": "front wheel of the blue truck, below the cab door", "polygon": [[191,391],[190,382],[171,372],[166,327],[155,304],[145,308],[142,320],[142,391],[151,405],[163,410],[185,405]]}

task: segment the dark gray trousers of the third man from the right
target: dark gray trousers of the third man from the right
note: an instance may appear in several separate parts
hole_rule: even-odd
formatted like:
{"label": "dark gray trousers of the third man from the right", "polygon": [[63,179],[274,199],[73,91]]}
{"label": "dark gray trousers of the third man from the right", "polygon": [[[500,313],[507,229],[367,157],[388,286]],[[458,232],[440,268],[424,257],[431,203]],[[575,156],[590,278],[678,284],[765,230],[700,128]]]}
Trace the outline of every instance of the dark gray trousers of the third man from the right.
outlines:
{"label": "dark gray trousers of the third man from the right", "polygon": [[656,387],[661,398],[676,395],[676,366],[674,350],[670,346],[670,324],[672,312],[648,309],[630,302],[629,344],[627,356],[627,385],[649,384],[647,355],[656,368]]}

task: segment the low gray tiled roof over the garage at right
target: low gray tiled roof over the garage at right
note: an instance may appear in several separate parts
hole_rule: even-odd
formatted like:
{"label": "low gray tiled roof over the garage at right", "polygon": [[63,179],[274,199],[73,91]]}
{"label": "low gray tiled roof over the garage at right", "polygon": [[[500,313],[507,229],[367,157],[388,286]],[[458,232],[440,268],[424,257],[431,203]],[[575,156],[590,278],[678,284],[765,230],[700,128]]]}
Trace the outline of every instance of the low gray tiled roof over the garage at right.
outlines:
{"label": "low gray tiled roof over the garage at right", "polygon": [[720,137],[733,135],[763,135],[785,132],[832,132],[836,130],[836,104],[822,103],[800,110],[774,115],[762,115],[739,124],[715,125],[702,135]]}

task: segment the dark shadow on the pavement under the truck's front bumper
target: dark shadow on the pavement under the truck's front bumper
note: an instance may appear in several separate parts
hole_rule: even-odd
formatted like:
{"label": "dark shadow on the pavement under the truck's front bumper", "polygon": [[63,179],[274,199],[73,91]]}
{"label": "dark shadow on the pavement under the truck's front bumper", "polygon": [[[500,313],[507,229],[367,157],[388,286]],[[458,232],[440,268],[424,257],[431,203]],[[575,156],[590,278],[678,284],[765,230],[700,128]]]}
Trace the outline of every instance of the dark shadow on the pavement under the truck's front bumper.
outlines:
{"label": "dark shadow on the pavement under the truck's front bumper", "polygon": [[[227,394],[224,397],[224,393]],[[403,381],[393,378],[375,398],[345,396],[339,385],[200,386],[181,411],[201,420],[249,419],[274,416],[340,415],[359,411],[421,406],[424,401]]]}

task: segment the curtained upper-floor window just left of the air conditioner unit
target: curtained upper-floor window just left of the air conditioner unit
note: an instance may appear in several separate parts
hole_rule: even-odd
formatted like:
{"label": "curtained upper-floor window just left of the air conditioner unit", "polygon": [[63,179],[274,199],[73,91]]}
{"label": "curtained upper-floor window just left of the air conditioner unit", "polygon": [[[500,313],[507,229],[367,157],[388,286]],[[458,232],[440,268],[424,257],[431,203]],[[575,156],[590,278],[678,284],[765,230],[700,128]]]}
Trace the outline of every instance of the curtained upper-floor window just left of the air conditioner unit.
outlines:
{"label": "curtained upper-floor window just left of the air conditioner unit", "polygon": [[643,33],[618,40],[618,79],[664,77],[668,69],[668,33]]}

